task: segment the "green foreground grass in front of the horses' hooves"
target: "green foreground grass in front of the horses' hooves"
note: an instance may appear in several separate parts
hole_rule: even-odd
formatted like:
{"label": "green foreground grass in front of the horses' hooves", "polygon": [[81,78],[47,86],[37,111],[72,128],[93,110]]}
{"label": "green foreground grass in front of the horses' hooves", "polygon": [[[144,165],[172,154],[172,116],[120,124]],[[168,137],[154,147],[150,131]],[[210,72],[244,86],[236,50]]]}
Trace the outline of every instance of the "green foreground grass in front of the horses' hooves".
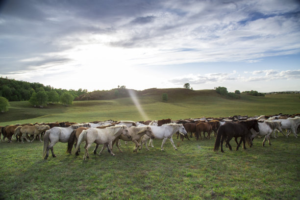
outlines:
{"label": "green foreground grass in front of the horses' hooves", "polygon": [[[298,200],[300,146],[295,137],[263,138],[247,150],[214,152],[211,140],[183,142],[174,137],[165,151],[161,140],[154,149],[133,153],[133,143],[122,142],[116,156],[104,151],[82,160],[66,154],[57,143],[48,160],[42,159],[39,141],[0,144],[0,195],[3,199],[194,199]],[[236,147],[231,141],[233,148]],[[83,147],[83,144],[81,145]],[[99,150],[98,150],[99,152]]]}

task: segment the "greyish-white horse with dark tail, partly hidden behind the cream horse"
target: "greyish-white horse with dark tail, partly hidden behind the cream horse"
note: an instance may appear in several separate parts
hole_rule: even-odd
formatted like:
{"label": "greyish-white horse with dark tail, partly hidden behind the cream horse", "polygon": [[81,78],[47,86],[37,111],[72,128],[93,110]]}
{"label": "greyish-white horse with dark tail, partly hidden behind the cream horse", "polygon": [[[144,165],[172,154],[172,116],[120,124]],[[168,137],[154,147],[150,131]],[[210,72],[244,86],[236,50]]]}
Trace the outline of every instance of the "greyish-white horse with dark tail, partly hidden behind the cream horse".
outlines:
{"label": "greyish-white horse with dark tail, partly hidden behind the cream horse", "polygon": [[50,130],[47,130],[44,135],[43,158],[47,160],[49,156],[49,150],[51,150],[52,156],[56,157],[56,155],[53,153],[53,146],[57,142],[67,143],[69,141],[70,135],[73,132],[73,130],[82,126],[90,127],[90,125],[87,123],[87,124],[71,125],[66,128],[54,126]]}

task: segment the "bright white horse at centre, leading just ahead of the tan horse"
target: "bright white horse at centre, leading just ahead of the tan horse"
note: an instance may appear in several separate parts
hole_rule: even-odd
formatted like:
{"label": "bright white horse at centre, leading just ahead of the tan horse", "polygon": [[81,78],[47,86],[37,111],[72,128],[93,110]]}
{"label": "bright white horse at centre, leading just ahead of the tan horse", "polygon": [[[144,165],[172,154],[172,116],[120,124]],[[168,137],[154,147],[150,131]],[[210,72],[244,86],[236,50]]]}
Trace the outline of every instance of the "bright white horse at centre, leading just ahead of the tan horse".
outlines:
{"label": "bright white horse at centre, leading just ahead of the tan horse", "polygon": [[[151,126],[151,129],[152,129],[152,133],[154,135],[154,139],[163,139],[161,147],[160,147],[161,150],[164,150],[163,149],[164,144],[167,141],[167,139],[169,139],[171,141],[174,149],[177,150],[177,148],[174,145],[173,139],[172,139],[172,136],[175,132],[179,131],[179,133],[181,133],[183,135],[187,135],[187,132],[182,124],[165,124],[162,126]],[[146,149],[149,150],[146,145],[148,139],[149,139],[149,137],[147,135],[143,136],[140,149],[142,148],[142,144],[144,143]],[[153,145],[152,145],[152,147],[153,147]]]}

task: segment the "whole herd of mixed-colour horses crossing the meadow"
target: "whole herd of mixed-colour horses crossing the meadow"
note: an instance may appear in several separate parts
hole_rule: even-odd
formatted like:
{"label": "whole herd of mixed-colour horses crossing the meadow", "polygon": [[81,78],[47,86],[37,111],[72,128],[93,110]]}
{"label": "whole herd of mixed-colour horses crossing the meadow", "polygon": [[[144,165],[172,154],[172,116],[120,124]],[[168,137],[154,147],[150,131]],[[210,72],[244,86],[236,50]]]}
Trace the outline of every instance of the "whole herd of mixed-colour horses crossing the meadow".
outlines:
{"label": "whole herd of mixed-colour horses crossing the meadow", "polygon": [[[93,143],[96,143],[96,147],[93,153],[97,153],[99,145],[103,145],[101,152],[106,148],[111,155],[113,153],[113,146],[116,144],[118,150],[120,149],[120,140],[126,142],[132,141],[135,144],[133,152],[142,149],[144,144],[146,150],[147,142],[149,146],[153,147],[152,139],[162,140],[161,150],[164,150],[164,144],[169,139],[175,150],[175,144],[172,136],[177,134],[177,139],[180,135],[180,139],[184,138],[190,140],[195,136],[196,140],[202,140],[201,133],[204,139],[210,139],[210,134],[214,132],[216,137],[214,150],[221,152],[223,150],[223,143],[226,147],[232,150],[230,140],[235,139],[237,144],[236,150],[239,149],[243,142],[243,148],[246,149],[246,143],[251,147],[253,145],[253,139],[257,136],[264,136],[263,146],[268,139],[269,145],[270,136],[281,132],[284,136],[288,136],[291,132],[295,137],[298,136],[297,132],[300,127],[300,114],[295,115],[276,115],[276,116],[234,116],[229,118],[200,118],[200,119],[187,119],[176,120],[163,119],[158,121],[146,121],[146,122],[133,122],[133,121],[104,121],[104,122],[91,122],[91,123],[48,123],[48,124],[25,124],[25,125],[7,125],[0,127],[0,140],[4,141],[5,138],[8,142],[12,142],[12,136],[17,141],[24,143],[24,139],[27,142],[32,142],[35,138],[39,138],[40,142],[43,142],[43,158],[46,160],[49,156],[49,150],[51,150],[52,156],[56,157],[53,152],[53,146],[57,142],[68,143],[67,152],[72,153],[73,146],[75,147],[75,154],[79,155],[80,144],[85,142],[85,152],[83,159],[89,158],[89,148]],[[286,134],[282,129],[287,130]],[[188,136],[190,132],[190,137]],[[207,133],[207,136],[205,136]],[[3,135],[3,139],[1,138]],[[30,139],[30,136],[32,139]],[[42,141],[42,136],[43,141]],[[278,136],[278,135],[277,135]],[[238,138],[240,141],[238,142]],[[29,140],[30,139],[30,140]]]}

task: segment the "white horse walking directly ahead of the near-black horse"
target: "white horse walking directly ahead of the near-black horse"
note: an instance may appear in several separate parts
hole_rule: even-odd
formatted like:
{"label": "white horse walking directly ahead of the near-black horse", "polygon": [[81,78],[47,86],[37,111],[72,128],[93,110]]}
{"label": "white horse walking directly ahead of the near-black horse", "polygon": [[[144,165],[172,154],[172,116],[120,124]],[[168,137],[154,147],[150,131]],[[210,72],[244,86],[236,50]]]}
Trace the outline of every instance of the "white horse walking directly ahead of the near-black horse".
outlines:
{"label": "white horse walking directly ahead of the near-black horse", "polygon": [[[282,133],[281,122],[269,122],[265,120],[264,122],[258,123],[258,128],[259,128],[259,132],[256,132],[253,128],[250,129],[252,133],[251,139],[253,141],[254,137],[256,137],[257,135],[265,136],[265,139],[263,141],[263,146],[265,146],[266,139],[268,139],[269,145],[271,145],[270,135],[274,130],[278,130],[279,132]],[[251,142],[251,146],[252,146],[252,142]]]}

